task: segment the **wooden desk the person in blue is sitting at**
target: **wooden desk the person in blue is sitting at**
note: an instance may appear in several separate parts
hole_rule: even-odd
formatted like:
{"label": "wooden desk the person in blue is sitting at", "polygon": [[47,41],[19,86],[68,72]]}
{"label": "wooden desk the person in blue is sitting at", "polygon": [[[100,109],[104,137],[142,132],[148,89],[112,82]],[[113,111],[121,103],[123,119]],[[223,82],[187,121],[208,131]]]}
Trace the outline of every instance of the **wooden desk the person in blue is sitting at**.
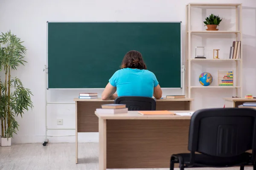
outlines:
{"label": "wooden desk the person in blue is sitting at", "polygon": [[[159,99],[157,100],[156,110],[191,110],[193,99]],[[99,132],[99,119],[94,114],[96,108],[101,108],[103,104],[111,104],[114,100],[99,99],[78,99],[76,102],[76,164],[78,163],[78,133],[80,132]]]}

